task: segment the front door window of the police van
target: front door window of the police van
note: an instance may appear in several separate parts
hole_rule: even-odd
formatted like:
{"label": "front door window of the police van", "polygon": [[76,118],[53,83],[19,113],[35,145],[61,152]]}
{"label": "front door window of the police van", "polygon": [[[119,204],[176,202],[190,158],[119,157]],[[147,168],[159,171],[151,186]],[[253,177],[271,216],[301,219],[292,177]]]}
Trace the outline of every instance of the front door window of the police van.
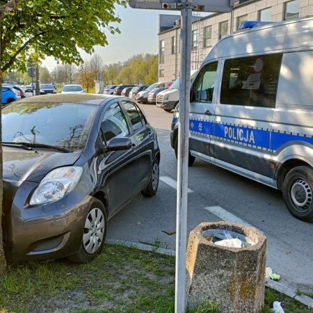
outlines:
{"label": "front door window of the police van", "polygon": [[212,102],[218,62],[202,67],[193,83],[191,102]]}

